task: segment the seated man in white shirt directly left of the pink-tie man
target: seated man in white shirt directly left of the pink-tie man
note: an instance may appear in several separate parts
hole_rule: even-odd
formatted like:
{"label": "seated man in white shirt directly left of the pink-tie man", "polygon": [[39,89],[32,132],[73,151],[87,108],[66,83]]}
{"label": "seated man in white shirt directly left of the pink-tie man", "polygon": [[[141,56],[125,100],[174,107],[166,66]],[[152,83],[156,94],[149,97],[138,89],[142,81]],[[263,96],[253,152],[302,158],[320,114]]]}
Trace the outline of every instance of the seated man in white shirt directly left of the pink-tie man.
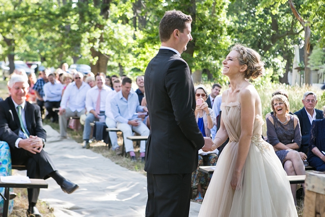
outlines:
{"label": "seated man in white shirt directly left of the pink-tie man", "polygon": [[66,138],[67,119],[73,116],[80,117],[86,112],[85,99],[90,86],[82,79],[82,73],[75,73],[74,82],[70,83],[63,93],[58,112],[61,138]]}

